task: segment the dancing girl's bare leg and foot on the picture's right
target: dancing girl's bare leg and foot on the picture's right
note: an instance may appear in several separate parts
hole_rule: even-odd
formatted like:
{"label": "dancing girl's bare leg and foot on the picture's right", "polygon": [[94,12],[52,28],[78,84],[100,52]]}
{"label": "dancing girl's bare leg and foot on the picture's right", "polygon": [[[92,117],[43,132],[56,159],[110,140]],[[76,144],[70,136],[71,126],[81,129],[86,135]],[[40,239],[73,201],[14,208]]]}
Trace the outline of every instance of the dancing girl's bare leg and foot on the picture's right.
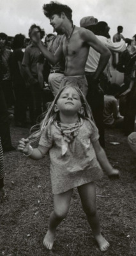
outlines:
{"label": "dancing girl's bare leg and foot on the picture's right", "polygon": [[78,187],[80,199],[84,212],[86,212],[87,220],[92,229],[94,238],[102,252],[109,248],[109,243],[100,233],[100,221],[96,210],[96,188],[94,182],[89,182]]}

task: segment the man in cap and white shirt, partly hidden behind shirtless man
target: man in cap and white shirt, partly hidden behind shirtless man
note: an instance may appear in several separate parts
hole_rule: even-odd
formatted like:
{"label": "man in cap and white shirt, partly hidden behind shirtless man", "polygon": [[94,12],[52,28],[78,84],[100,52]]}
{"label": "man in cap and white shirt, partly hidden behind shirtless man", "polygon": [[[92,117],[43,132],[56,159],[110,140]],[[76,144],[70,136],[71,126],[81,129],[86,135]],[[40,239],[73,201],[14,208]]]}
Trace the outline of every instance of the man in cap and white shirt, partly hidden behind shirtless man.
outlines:
{"label": "man in cap and white shirt, partly hidden behind shirtless man", "polygon": [[[109,26],[107,22],[93,19],[93,16],[84,17],[80,20],[80,26],[93,31],[96,37],[109,48],[111,52],[123,52],[126,49],[125,41],[118,43],[112,43],[109,35]],[[100,61],[100,53],[95,51],[93,47],[90,47],[88,58],[85,66],[85,74],[88,83],[87,101],[93,111],[94,120],[100,134],[100,144],[105,146],[104,138],[104,124],[103,124],[103,108],[104,108],[104,95],[100,87],[102,81],[107,83],[107,70],[100,74],[99,81],[94,83],[93,77],[98,68]]]}

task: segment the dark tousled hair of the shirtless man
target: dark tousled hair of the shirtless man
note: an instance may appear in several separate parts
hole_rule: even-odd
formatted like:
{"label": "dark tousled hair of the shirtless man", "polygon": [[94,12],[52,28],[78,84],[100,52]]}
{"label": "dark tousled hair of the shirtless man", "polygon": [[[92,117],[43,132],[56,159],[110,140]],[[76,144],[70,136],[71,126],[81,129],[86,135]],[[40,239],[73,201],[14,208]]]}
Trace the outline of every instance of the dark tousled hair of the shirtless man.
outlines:
{"label": "dark tousled hair of the shirtless man", "polygon": [[54,14],[57,14],[60,16],[61,13],[64,12],[66,17],[72,22],[72,9],[65,4],[52,1],[49,4],[43,5],[43,12],[45,16],[49,19]]}

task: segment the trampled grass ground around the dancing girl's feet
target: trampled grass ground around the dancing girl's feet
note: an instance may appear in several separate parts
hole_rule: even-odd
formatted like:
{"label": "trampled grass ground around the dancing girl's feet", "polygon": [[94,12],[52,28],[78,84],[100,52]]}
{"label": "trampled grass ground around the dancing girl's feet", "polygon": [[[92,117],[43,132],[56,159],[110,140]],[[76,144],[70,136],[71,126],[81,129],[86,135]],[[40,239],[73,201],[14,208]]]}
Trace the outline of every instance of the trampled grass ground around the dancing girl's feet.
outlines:
{"label": "trampled grass ground around the dancing girl's feet", "polygon": [[[13,145],[26,138],[29,129],[11,127]],[[97,183],[97,207],[102,234],[110,243],[105,256],[136,255],[136,156],[126,137],[105,132],[107,156],[121,172],[119,180],[106,176]],[[119,145],[111,145],[111,141]],[[52,251],[43,246],[52,211],[49,156],[40,161],[20,152],[4,154],[6,197],[0,205],[0,256],[100,256],[74,189],[67,218],[57,228]]]}

